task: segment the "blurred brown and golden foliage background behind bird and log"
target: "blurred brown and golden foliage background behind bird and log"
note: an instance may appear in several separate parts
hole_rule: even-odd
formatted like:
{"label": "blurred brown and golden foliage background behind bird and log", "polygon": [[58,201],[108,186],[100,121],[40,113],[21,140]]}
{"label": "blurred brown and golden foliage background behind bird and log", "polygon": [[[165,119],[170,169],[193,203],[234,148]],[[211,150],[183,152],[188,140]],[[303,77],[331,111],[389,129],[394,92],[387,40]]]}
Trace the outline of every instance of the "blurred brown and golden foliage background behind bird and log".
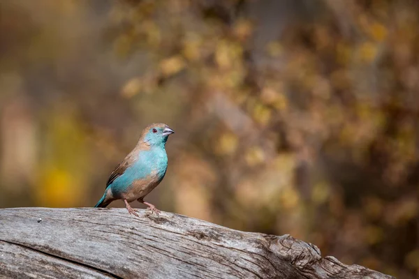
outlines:
{"label": "blurred brown and golden foliage background behind bird and log", "polygon": [[157,208],[419,278],[418,34],[416,0],[0,0],[0,206],[94,206],[163,122]]}

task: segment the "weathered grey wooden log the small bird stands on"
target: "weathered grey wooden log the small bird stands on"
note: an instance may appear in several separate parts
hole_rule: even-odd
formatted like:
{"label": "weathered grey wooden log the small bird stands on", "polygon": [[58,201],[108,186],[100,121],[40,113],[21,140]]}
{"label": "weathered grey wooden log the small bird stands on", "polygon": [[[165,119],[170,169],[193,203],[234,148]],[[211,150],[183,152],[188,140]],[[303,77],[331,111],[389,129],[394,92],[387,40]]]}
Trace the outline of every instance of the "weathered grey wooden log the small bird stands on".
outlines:
{"label": "weathered grey wooden log the small bird stands on", "polygon": [[392,278],[289,235],[162,212],[0,209],[1,278]]}

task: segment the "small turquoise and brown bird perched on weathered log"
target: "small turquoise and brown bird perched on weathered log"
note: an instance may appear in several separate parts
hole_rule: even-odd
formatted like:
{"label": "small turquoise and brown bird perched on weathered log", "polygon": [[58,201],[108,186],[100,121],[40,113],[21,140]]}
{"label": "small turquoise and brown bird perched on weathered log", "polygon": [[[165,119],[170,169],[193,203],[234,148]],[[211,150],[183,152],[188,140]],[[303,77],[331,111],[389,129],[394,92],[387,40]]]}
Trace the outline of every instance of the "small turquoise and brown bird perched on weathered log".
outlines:
{"label": "small turquoise and brown bird perched on weathered log", "polygon": [[156,188],[166,175],[166,142],[173,133],[175,131],[164,123],[153,123],[142,130],[135,148],[110,174],[105,193],[94,207],[106,207],[111,202],[122,199],[128,213],[140,217],[129,205],[136,199],[147,205],[151,213],[159,216],[159,209],[145,202],[144,197]]}

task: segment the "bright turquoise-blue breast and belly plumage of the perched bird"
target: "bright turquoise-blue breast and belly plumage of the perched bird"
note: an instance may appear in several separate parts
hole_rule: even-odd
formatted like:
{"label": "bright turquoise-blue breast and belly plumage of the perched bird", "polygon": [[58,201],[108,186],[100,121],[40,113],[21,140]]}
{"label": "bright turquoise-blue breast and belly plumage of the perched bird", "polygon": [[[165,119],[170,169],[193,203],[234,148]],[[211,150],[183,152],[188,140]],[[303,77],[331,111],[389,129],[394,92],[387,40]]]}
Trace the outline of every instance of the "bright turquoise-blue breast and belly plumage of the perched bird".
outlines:
{"label": "bright turquoise-blue breast and belly plumage of the perched bird", "polygon": [[168,168],[168,156],[166,150],[160,147],[152,147],[146,151],[140,151],[138,158],[128,167],[124,174],[117,177],[110,184],[112,192],[122,193],[128,190],[129,186],[138,179],[149,179],[150,174],[155,174],[150,182],[161,181]]}

